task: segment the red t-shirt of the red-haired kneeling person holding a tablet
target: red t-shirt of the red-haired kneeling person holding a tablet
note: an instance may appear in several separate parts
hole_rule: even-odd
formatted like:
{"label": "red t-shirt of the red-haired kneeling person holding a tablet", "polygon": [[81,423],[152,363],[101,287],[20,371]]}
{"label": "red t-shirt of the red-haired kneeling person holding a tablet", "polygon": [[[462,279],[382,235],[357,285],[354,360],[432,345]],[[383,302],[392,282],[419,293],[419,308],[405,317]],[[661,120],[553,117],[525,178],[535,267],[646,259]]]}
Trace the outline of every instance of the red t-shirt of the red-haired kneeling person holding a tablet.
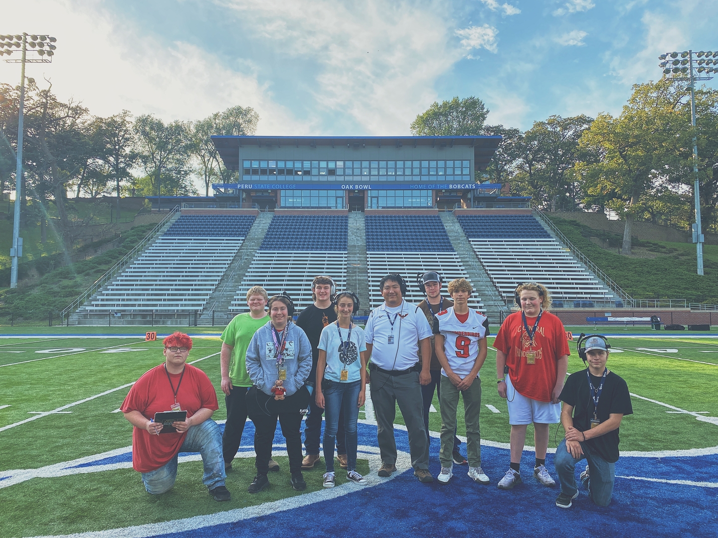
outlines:
{"label": "red t-shirt of the red-haired kneeling person holding a tablet", "polygon": [[[180,383],[182,374],[169,374],[174,388]],[[187,411],[187,418],[194,415],[202,407],[216,411],[219,409],[217,393],[210,378],[199,368],[185,364],[185,377],[177,390],[177,403],[182,411]],[[139,411],[147,419],[162,411],[169,411],[174,404],[174,392],[169,386],[164,363],[145,372],[132,386],[125,401],[122,412]],[[160,433],[150,435],[147,430],[132,430],[132,467],[140,473],[148,473],[159,469],[175,454],[180,452],[185,442],[185,433]]]}

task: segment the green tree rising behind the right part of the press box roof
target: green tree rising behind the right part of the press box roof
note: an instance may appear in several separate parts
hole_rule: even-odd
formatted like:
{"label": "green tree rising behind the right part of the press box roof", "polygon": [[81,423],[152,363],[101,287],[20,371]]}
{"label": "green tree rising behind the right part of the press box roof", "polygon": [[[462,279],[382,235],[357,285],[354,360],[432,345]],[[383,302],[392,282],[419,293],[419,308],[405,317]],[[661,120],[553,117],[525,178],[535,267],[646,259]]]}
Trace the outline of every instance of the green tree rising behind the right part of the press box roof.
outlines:
{"label": "green tree rising behind the right part of the press box roof", "polygon": [[473,96],[436,101],[411,122],[414,136],[480,136],[489,110]]}

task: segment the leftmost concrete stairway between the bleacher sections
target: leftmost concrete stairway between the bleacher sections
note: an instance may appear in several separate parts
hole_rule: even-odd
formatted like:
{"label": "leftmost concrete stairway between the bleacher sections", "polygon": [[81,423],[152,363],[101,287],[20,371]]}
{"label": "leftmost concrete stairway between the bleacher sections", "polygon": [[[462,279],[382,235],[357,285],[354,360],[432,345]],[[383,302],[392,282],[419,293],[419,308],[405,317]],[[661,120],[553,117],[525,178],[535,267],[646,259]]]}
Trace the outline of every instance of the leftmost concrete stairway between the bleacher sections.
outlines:
{"label": "leftmost concrete stairway between the bleacher sections", "polygon": [[232,299],[242,282],[242,278],[244,278],[244,273],[247,272],[249,265],[251,265],[257,249],[262,244],[262,240],[264,240],[264,235],[267,228],[269,228],[272,217],[274,217],[273,212],[259,213],[247,237],[244,238],[237,255],[230,263],[215,291],[210,295],[199,318],[197,318],[198,325],[211,325],[213,311],[215,312],[215,324],[226,324],[233,317],[233,314],[228,314]]}

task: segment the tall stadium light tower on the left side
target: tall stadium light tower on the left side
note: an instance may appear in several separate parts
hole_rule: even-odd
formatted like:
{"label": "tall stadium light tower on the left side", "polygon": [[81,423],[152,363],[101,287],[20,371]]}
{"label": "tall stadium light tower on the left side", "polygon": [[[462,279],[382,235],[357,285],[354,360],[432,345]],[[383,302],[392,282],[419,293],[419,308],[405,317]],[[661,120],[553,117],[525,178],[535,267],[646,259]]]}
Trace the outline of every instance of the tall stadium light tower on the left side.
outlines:
{"label": "tall stadium light tower on the left side", "polygon": [[[22,238],[20,237],[20,195],[22,194],[22,121],[25,105],[25,64],[52,62],[55,55],[55,37],[36,34],[0,35],[0,57],[7,56],[8,63],[22,64],[20,67],[20,105],[17,114],[17,169],[15,170],[15,218],[12,225],[12,247],[10,258],[10,287],[17,288],[17,262],[22,256]],[[30,49],[27,46],[30,46]],[[21,50],[14,50],[21,49]],[[14,52],[21,52],[20,57],[9,58]],[[27,57],[28,52],[37,56]],[[32,78],[28,82],[34,82]]]}

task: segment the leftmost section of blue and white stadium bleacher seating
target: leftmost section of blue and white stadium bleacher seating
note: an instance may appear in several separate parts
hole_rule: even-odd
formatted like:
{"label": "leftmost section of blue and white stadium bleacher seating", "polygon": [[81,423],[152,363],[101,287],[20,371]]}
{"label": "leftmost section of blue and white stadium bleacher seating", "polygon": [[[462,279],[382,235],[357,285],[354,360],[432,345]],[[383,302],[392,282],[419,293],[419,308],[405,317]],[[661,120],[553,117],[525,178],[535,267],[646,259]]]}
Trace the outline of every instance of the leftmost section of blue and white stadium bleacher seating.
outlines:
{"label": "leftmost section of blue and white stadium bleacher seating", "polygon": [[254,219],[252,215],[181,215],[80,310],[200,311]]}

